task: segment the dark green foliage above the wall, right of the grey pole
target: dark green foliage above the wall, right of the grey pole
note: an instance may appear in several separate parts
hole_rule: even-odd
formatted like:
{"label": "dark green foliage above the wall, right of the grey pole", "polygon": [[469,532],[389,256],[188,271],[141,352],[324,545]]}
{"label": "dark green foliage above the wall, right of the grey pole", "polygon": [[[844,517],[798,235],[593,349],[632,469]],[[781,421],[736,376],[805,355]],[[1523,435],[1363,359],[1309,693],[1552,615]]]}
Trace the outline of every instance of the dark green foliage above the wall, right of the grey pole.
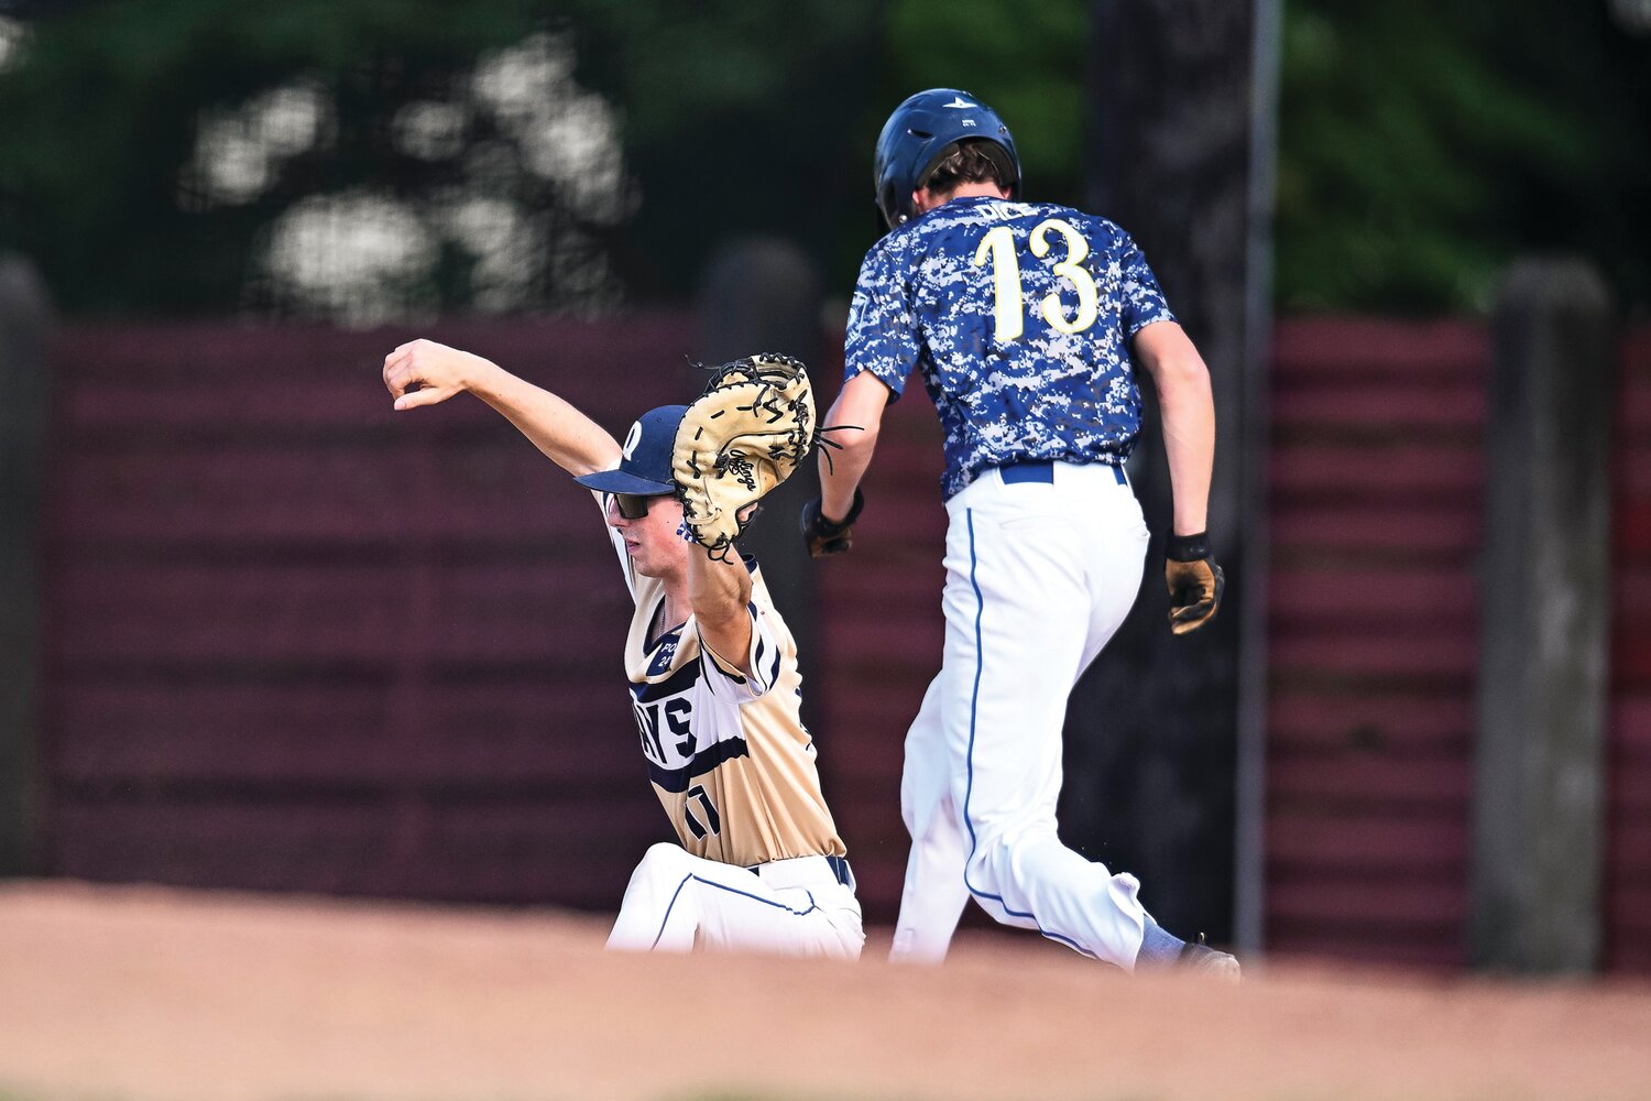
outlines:
{"label": "dark green foliage above the wall, right of the grey pole", "polygon": [[1603,0],[1289,0],[1281,307],[1484,310],[1532,249],[1644,300],[1648,69]]}

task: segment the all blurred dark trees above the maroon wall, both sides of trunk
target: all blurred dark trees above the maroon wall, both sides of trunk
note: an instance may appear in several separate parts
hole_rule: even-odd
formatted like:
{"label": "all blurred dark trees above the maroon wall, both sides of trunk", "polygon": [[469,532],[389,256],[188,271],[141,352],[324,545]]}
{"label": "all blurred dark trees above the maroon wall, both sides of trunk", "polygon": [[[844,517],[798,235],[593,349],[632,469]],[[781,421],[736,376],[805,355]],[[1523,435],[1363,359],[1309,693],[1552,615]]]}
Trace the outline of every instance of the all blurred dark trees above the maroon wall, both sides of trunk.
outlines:
{"label": "all blurred dark trees above the maroon wall, both sides of trunk", "polygon": [[[1283,310],[1483,312],[1517,253],[1651,302],[1651,38],[1631,0],[1288,0]],[[0,248],[73,315],[613,310],[718,239],[847,289],[870,145],[918,87],[994,102],[1081,193],[1090,3],[0,0]],[[1103,211],[1105,213],[1105,211]]]}

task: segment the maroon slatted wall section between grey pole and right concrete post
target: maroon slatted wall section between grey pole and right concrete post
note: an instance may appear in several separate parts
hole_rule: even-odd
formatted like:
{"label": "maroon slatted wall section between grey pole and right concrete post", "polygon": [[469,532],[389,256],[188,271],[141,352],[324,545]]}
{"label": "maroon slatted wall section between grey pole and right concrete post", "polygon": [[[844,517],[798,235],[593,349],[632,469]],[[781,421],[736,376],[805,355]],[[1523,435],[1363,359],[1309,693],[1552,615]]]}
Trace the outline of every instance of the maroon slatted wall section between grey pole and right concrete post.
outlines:
{"label": "maroon slatted wall section between grey pole and right concrete post", "polygon": [[1489,342],[1276,332],[1266,946],[1459,964]]}

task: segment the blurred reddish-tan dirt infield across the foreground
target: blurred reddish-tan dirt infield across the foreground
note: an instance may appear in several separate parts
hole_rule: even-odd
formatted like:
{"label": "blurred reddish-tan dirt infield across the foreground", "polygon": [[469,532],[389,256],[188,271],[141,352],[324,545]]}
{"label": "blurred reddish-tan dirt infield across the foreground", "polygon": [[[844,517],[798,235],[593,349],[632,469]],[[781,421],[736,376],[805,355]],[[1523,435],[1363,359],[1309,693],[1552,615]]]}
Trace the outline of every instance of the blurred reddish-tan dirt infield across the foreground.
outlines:
{"label": "blurred reddish-tan dirt infield across the foreground", "polygon": [[0,1098],[1651,1098],[1651,987],[629,957],[606,923],[0,886]]}

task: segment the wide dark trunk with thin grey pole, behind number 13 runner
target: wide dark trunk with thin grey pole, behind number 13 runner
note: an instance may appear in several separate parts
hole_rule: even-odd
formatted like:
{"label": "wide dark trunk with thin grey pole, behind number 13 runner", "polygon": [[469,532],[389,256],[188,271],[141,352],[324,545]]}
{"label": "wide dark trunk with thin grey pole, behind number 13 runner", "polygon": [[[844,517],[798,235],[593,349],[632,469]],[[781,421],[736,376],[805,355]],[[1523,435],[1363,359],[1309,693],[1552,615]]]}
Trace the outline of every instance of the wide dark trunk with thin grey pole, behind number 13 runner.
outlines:
{"label": "wide dark trunk with thin grey pole, behind number 13 runner", "polygon": [[[1263,934],[1263,274],[1276,8],[1273,0],[1090,5],[1081,205],[1139,243],[1209,363],[1218,423],[1209,532],[1227,599],[1194,636],[1171,636],[1164,624],[1172,494],[1156,398],[1144,386],[1149,411],[1129,480],[1152,543],[1134,609],[1073,690],[1060,809],[1073,847],[1149,885],[1166,929],[1245,949],[1260,947]],[[1187,33],[1190,12],[1197,33]],[[1034,187],[1030,198],[1050,196]]]}

